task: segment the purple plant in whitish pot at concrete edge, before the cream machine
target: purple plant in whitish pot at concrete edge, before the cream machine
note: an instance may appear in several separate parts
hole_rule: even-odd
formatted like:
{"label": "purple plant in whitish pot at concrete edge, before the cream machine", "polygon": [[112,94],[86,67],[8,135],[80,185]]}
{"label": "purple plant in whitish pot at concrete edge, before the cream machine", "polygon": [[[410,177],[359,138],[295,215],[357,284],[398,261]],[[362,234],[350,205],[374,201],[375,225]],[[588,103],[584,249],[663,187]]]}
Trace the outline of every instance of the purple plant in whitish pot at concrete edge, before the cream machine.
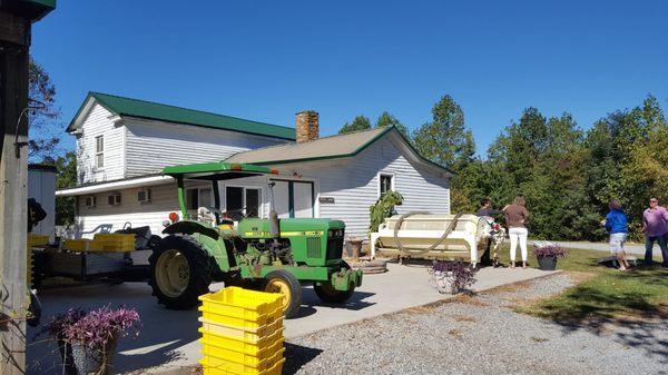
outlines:
{"label": "purple plant in whitish pot at concrete edge, before the cream machine", "polygon": [[432,268],[432,283],[441,294],[458,294],[475,283],[478,268],[458,260],[434,260]]}

